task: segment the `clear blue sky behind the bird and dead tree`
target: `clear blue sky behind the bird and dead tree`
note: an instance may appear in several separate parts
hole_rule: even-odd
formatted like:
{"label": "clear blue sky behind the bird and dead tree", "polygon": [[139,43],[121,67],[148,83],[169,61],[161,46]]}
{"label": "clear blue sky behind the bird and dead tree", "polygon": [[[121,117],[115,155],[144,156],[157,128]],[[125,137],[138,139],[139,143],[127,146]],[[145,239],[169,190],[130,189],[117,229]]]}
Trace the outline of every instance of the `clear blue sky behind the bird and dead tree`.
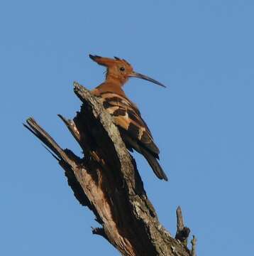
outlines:
{"label": "clear blue sky behind the bird and dead tree", "polygon": [[170,178],[135,154],[161,223],[175,234],[180,205],[198,255],[253,253],[253,14],[247,0],[1,1],[0,255],[118,255],[22,127],[33,116],[80,154],[57,114],[79,110],[74,80],[104,79],[89,53],[126,58],[168,85],[125,87]]}

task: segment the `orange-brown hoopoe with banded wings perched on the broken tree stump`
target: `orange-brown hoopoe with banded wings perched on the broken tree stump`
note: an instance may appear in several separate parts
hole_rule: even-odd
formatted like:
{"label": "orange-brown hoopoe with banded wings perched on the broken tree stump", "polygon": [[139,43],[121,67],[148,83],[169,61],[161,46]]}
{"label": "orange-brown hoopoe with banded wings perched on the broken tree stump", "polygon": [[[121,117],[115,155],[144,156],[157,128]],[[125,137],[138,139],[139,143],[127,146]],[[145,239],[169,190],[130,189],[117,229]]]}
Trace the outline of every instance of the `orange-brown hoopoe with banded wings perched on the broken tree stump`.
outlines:
{"label": "orange-brown hoopoe with banded wings perched on the broken tree stump", "polygon": [[146,75],[136,73],[126,60],[98,55],[89,55],[89,57],[106,67],[106,80],[92,90],[92,94],[99,97],[104,108],[114,118],[126,147],[130,151],[135,149],[143,154],[155,175],[167,181],[167,176],[158,163],[160,151],[153,141],[150,129],[141,117],[138,107],[123,92],[123,85],[128,78],[141,78],[162,87],[165,85]]}

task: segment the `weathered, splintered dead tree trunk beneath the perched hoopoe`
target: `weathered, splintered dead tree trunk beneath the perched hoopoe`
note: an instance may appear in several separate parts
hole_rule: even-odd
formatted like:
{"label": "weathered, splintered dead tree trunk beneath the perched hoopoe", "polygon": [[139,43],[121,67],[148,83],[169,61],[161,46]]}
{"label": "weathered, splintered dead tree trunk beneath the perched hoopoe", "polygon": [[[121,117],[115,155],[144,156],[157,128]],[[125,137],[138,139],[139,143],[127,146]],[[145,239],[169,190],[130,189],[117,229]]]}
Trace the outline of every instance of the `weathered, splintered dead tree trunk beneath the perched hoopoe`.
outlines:
{"label": "weathered, splintered dead tree trunk beneath the perched hoopoe", "polygon": [[73,120],[59,116],[82,147],[82,159],[70,149],[61,149],[34,119],[28,118],[25,126],[48,146],[65,170],[79,203],[94,212],[101,227],[92,232],[106,238],[122,255],[192,255],[183,221],[179,228],[177,225],[176,238],[159,223],[136,162],[110,114],[77,82],[74,92],[83,102],[80,112]]}

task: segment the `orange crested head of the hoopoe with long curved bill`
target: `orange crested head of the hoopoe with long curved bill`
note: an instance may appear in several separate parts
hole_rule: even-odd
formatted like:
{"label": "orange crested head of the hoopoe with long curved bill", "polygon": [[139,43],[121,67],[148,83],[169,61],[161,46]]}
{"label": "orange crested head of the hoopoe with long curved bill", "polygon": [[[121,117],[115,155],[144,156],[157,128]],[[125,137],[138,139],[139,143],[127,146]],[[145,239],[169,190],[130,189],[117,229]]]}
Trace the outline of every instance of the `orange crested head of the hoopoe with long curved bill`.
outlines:
{"label": "orange crested head of the hoopoe with long curved bill", "polygon": [[116,80],[118,82],[121,82],[121,85],[123,85],[125,82],[128,81],[128,78],[141,78],[144,80],[148,80],[150,82],[155,83],[156,85],[160,85],[162,87],[165,87],[165,85],[162,85],[162,83],[154,80],[153,78],[149,78],[146,75],[142,75],[140,73],[136,73],[133,70],[133,67],[130,63],[128,63],[126,60],[114,57],[112,58],[104,58],[98,55],[89,55],[92,60],[94,60],[99,65],[104,65],[106,67],[106,79]]}

